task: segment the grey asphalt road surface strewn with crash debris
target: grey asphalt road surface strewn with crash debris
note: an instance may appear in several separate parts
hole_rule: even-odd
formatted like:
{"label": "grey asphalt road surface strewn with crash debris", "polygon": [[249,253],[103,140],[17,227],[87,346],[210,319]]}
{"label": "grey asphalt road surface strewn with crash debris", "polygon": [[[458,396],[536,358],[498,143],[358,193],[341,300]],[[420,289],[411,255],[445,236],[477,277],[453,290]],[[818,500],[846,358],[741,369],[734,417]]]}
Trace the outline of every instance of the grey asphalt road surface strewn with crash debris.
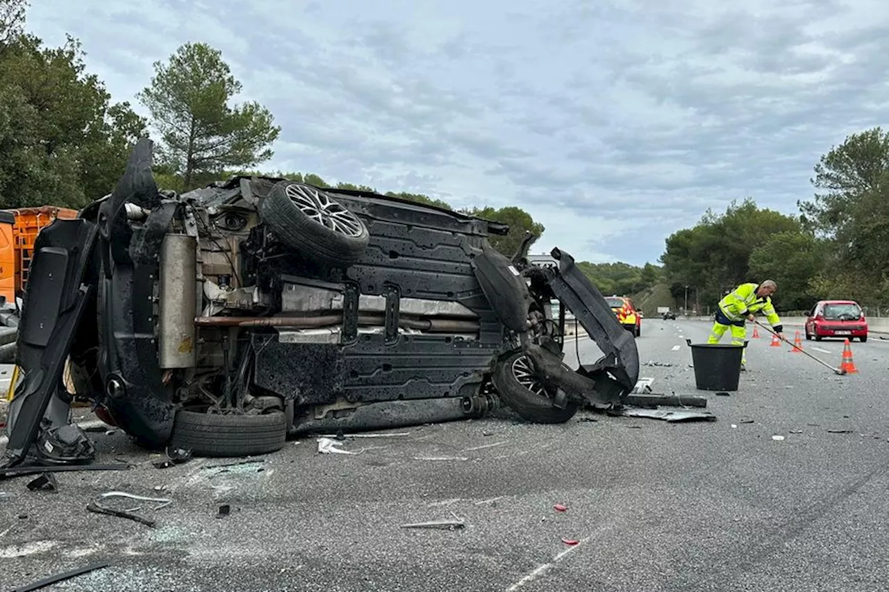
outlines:
{"label": "grey asphalt road surface strewn with crash debris", "polygon": [[[101,559],[112,564],[48,589],[889,588],[889,341],[854,342],[859,373],[837,376],[765,335],[741,388],[715,396],[695,391],[685,344],[708,329],[645,319],[637,342],[654,391],[707,395],[712,422],[583,412],[541,426],[501,412],[348,439],[351,455],[303,439],[228,468],[156,469],[123,434],[92,434],[100,460],[140,467],[60,474],[58,493],[0,482],[0,590]],[[842,342],[804,344],[839,365]],[[589,340],[578,350],[595,357]],[[86,511],[109,490],[173,502],[132,502],[156,528]],[[400,528],[454,516],[465,528]]]}

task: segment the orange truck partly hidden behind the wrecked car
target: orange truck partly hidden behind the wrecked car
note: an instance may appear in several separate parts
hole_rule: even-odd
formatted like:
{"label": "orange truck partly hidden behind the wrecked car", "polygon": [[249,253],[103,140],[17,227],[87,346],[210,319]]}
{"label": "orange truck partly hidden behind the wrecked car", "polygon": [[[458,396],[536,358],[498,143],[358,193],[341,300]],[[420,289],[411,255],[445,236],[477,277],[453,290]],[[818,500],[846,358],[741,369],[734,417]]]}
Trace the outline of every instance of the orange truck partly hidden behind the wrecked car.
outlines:
{"label": "orange truck partly hidden behind the wrecked car", "polygon": [[24,293],[40,230],[56,218],[76,217],[76,210],[55,205],[0,210],[0,300],[14,305]]}

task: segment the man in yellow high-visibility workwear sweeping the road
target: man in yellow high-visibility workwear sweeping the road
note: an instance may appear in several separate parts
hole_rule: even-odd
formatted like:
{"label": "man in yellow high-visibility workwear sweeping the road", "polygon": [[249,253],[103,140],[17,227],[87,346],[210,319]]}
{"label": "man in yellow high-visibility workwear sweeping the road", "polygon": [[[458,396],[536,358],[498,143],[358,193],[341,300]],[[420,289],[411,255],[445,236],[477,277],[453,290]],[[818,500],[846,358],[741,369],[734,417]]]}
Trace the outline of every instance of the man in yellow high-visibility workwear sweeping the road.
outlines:
{"label": "man in yellow high-visibility workwear sweeping the road", "polygon": [[[762,312],[772,325],[778,337],[784,340],[784,327],[781,318],[772,306],[772,294],[778,289],[773,280],[765,280],[762,284],[741,284],[732,292],[719,300],[713,329],[710,331],[708,343],[719,343],[725,331],[732,328],[732,343],[743,345],[747,337],[746,321],[752,321],[757,312]],[[741,370],[746,370],[747,348],[741,354]]]}

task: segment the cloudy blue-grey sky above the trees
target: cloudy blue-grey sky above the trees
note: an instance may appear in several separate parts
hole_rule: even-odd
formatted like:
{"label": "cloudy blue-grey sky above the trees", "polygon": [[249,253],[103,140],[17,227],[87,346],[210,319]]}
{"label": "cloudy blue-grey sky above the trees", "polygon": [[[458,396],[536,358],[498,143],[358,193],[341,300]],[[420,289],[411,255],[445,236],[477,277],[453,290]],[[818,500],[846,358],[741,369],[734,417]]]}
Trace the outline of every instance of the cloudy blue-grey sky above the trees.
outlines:
{"label": "cloudy blue-grey sky above the trees", "polygon": [[212,44],[283,128],[269,170],[518,205],[546,226],[534,252],[583,260],[656,261],[745,196],[797,213],[819,156],[889,115],[878,0],[31,4],[115,100]]}

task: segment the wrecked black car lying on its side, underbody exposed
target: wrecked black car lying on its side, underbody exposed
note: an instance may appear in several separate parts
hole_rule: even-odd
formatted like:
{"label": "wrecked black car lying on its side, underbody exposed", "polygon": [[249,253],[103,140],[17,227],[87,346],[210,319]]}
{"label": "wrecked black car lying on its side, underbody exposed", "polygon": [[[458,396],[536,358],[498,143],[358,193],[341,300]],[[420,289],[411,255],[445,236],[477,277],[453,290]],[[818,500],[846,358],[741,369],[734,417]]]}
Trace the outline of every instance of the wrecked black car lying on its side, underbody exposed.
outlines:
{"label": "wrecked black car lying on its side, underbody exposed", "polygon": [[[272,452],[288,434],[620,405],[636,342],[573,259],[493,250],[499,223],[363,191],[238,177],[156,188],[151,143],[114,192],[37,239],[5,466],[92,460],[61,380],[140,444]],[[556,305],[557,306],[554,306]],[[562,361],[565,312],[604,352]]]}

